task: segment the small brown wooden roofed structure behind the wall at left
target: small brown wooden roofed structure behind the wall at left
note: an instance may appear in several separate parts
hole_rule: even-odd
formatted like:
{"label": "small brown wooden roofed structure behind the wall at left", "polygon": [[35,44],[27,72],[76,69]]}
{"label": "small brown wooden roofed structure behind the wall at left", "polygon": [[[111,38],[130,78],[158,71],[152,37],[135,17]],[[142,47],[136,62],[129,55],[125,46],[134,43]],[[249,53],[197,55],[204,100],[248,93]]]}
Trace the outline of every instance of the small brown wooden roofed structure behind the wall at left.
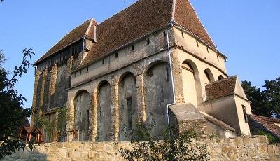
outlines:
{"label": "small brown wooden roofed structure behind the wall at left", "polygon": [[38,143],[41,143],[43,139],[43,134],[38,127],[22,127],[20,129],[19,140],[21,140],[22,136],[25,136],[25,144],[28,144],[32,137],[35,138],[35,141]]}

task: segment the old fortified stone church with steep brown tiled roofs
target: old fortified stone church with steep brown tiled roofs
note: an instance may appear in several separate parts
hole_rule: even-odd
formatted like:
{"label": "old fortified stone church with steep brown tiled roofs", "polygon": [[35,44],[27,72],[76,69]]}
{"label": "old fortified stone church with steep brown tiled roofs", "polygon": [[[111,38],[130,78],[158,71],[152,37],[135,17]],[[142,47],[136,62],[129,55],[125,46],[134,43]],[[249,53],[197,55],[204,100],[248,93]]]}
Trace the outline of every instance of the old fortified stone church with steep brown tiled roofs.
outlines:
{"label": "old fortified stone church with steep brown tiled roofs", "polygon": [[139,0],[87,20],[34,63],[31,126],[66,108],[64,141],[127,141],[139,121],[155,137],[250,135],[250,102],[226,60],[190,1]]}

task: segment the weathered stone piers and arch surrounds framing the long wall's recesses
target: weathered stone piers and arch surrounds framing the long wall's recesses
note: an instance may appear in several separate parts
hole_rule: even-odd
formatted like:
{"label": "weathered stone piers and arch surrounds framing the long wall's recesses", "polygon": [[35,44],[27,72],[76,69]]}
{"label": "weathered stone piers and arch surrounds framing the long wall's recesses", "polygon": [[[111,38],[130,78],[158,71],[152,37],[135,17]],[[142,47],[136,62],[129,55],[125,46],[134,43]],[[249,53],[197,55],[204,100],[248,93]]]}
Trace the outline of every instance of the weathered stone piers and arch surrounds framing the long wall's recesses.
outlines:
{"label": "weathered stone piers and arch surrounds framing the long wall's recesses", "polygon": [[[146,120],[146,98],[145,96],[145,90],[144,90],[144,71],[146,71],[149,67],[153,66],[153,64],[157,64],[158,62],[169,62],[168,52],[167,50],[161,50],[158,53],[154,53],[153,55],[146,57],[145,59],[141,59],[141,61],[134,62],[134,64],[130,64],[129,66],[125,66],[123,68],[120,68],[116,71],[109,72],[104,74],[103,76],[99,76],[97,78],[92,79],[91,81],[88,81],[87,83],[83,83],[81,85],[78,85],[76,87],[72,87],[68,91],[68,103],[67,106],[69,107],[69,122],[67,124],[67,129],[71,130],[73,129],[73,97],[75,94],[80,90],[87,90],[91,94],[92,98],[92,108],[90,113],[90,134],[89,139],[92,141],[98,141],[97,137],[97,126],[98,126],[98,118],[97,118],[97,109],[98,109],[98,89],[99,84],[108,81],[111,87],[111,93],[110,97],[106,97],[107,99],[110,98],[111,101],[111,125],[113,126],[113,134],[110,134],[110,139],[113,136],[113,140],[117,141],[119,137],[120,132],[120,113],[121,113],[121,99],[120,97],[123,97],[123,93],[119,93],[121,89],[121,83],[122,79],[125,78],[125,73],[133,73],[136,80],[127,80],[127,83],[136,83],[136,99],[137,99],[137,115],[133,117],[133,120],[141,119]],[[166,71],[166,69],[164,69]],[[171,85],[171,83],[170,83]],[[172,90],[170,90],[172,92]],[[160,94],[160,93],[156,93]],[[120,96],[119,96],[120,95]],[[173,98],[171,96],[171,98]],[[148,98],[148,100],[153,100],[154,98]],[[133,101],[133,100],[132,100]],[[109,102],[109,101],[107,101]],[[106,105],[107,108],[109,105]],[[166,108],[166,106],[165,106]],[[68,140],[73,141],[73,136],[71,134],[68,134]]]}

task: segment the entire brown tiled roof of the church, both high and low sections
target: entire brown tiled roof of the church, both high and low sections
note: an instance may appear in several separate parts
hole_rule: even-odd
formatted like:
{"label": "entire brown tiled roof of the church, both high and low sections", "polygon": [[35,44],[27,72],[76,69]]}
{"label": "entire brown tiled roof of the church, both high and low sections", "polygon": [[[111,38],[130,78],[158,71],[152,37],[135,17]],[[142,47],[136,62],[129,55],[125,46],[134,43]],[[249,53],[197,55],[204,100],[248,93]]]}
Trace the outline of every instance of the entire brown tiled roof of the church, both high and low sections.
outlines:
{"label": "entire brown tiled roof of the church, both high and low sections", "polygon": [[[34,64],[54,55],[67,45],[83,38],[90,22],[96,25],[97,42],[92,45],[89,54],[78,69],[97,61],[100,57],[120,49],[153,31],[168,27],[171,23],[179,24],[202,41],[216,48],[206,29],[200,22],[189,0],[139,0],[132,6],[97,25],[94,20],[87,20],[43,55]],[[90,31],[93,32],[94,29]]]}

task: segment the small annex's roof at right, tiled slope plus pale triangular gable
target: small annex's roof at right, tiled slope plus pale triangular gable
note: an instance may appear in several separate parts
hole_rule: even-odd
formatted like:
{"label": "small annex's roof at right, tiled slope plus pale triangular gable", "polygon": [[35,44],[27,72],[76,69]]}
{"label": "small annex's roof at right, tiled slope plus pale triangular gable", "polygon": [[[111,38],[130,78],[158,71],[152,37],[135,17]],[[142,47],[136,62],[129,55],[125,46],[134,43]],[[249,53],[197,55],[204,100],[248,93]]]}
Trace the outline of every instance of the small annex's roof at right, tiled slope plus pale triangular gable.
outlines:
{"label": "small annex's roof at right, tiled slope plus pale triangular gable", "polygon": [[213,83],[209,83],[206,85],[205,90],[207,100],[227,97],[232,94],[237,94],[239,97],[248,100],[237,76],[232,76],[222,80],[217,80]]}

